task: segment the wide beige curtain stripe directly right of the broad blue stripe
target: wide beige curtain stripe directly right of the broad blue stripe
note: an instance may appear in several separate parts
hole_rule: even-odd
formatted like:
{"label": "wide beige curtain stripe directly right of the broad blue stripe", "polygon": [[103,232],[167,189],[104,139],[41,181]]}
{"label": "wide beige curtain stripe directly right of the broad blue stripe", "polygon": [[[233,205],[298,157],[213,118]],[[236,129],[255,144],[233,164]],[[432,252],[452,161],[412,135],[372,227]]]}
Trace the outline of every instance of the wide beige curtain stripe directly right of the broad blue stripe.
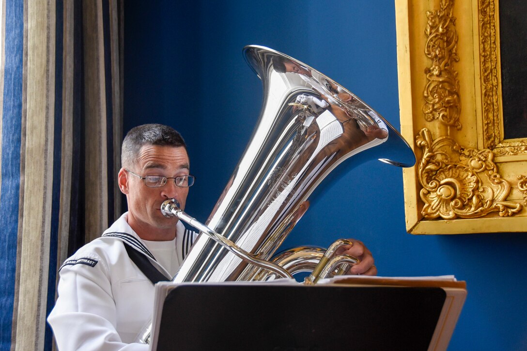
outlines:
{"label": "wide beige curtain stripe directly right of the broad blue stripe", "polygon": [[[47,295],[55,85],[54,2],[29,1],[24,8],[24,73],[17,263],[17,350],[43,349]],[[15,295],[16,298],[16,295]],[[45,301],[45,300],[44,300]],[[16,318],[16,319],[15,319]]]}

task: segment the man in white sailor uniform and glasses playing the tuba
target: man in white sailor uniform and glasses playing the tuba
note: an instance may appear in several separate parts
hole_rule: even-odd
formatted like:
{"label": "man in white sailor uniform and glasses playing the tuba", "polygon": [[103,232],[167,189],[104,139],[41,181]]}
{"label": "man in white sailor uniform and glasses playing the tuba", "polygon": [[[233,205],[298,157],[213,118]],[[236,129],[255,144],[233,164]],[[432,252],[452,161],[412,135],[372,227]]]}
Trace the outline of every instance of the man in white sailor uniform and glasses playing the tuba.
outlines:
{"label": "man in white sailor uniform and glasses playing the tuba", "polygon": [[[169,280],[198,235],[160,210],[167,199],[184,209],[194,183],[177,131],[161,124],[133,128],[124,138],[121,162],[118,183],[128,212],[59,270],[58,299],[48,323],[60,350],[148,350],[149,345],[134,340],[150,321],[154,284],[132,257]],[[360,260],[348,274],[376,275],[372,253],[352,241],[337,252]]]}

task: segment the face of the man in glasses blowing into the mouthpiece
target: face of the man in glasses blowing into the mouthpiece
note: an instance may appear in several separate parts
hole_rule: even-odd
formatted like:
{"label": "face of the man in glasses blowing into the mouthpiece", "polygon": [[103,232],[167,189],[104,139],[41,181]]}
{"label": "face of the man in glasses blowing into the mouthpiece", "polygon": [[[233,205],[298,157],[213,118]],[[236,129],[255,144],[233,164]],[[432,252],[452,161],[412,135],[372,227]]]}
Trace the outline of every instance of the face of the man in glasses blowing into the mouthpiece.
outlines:
{"label": "face of the man in glasses blowing into the mouthpiece", "polygon": [[[141,177],[187,176],[189,157],[183,147],[144,145],[134,164],[127,167]],[[189,188],[176,186],[173,179],[167,179],[163,187],[150,188],[144,184],[143,179],[124,168],[119,172],[119,187],[128,201],[128,223],[141,238],[167,240],[167,235],[175,235],[175,223],[178,219],[165,218],[161,213],[161,204],[165,200],[175,199],[180,208],[184,209]]]}

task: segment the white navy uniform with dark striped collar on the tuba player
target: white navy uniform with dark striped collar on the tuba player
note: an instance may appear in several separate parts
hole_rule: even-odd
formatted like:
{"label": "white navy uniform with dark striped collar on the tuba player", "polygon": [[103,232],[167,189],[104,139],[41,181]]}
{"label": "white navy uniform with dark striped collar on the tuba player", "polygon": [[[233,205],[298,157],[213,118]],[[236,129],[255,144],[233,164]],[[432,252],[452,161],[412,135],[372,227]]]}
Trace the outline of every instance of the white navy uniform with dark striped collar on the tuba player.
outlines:
{"label": "white navy uniform with dark striped collar on the tuba player", "polygon": [[[150,323],[154,286],[129,258],[122,241],[171,277],[198,233],[179,221],[172,244],[149,242],[139,238],[127,218],[128,212],[60,268],[58,299],[47,318],[59,350],[148,350],[149,345],[133,342]],[[165,250],[170,245],[173,249]],[[158,256],[163,266],[154,258]]]}

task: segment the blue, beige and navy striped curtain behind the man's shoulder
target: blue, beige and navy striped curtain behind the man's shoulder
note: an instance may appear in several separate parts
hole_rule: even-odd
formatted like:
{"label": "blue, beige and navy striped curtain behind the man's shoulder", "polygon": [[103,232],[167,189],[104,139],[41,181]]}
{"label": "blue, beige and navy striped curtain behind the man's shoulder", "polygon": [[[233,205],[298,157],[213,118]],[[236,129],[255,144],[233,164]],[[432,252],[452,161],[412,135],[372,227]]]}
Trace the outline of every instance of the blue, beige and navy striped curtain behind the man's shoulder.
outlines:
{"label": "blue, beige and navy striped curtain behind the man's shoulder", "polygon": [[51,350],[64,259],[121,213],[122,0],[0,0],[0,349]]}

